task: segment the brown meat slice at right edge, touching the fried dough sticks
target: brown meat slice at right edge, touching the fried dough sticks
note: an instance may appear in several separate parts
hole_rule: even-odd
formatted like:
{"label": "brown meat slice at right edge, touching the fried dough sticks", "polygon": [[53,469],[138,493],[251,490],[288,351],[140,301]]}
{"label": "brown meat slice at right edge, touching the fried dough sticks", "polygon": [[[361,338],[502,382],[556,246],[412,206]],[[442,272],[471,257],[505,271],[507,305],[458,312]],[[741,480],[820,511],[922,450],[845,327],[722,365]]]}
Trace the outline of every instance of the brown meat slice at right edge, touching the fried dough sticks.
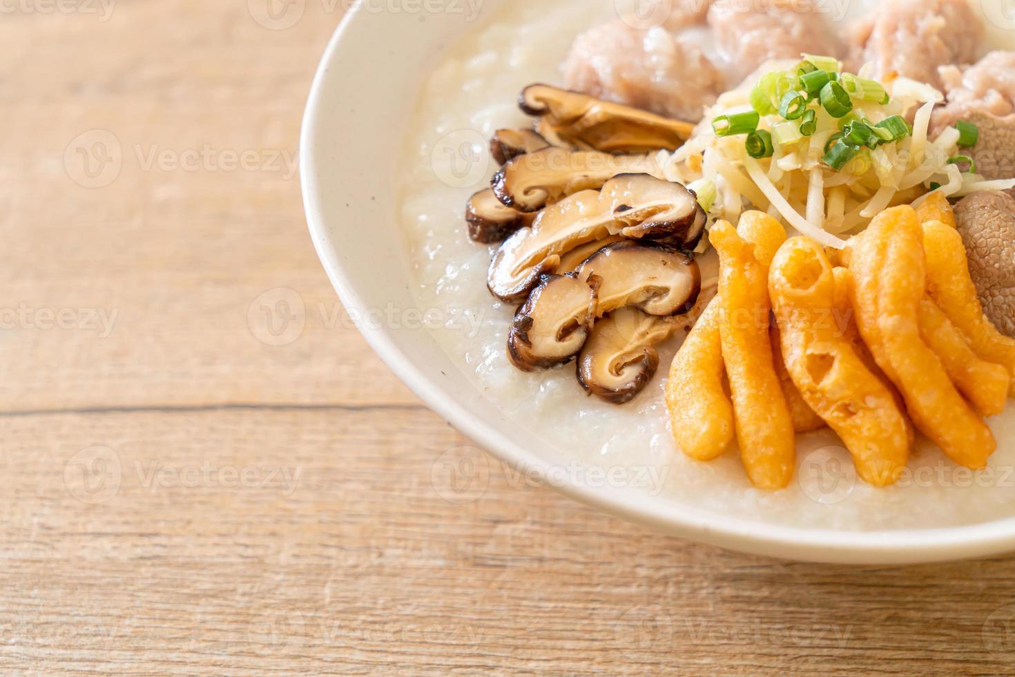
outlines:
{"label": "brown meat slice at right edge, touching the fried dough sticks", "polygon": [[998,331],[1015,337],[1015,198],[973,193],[955,205],[955,220],[984,314]]}

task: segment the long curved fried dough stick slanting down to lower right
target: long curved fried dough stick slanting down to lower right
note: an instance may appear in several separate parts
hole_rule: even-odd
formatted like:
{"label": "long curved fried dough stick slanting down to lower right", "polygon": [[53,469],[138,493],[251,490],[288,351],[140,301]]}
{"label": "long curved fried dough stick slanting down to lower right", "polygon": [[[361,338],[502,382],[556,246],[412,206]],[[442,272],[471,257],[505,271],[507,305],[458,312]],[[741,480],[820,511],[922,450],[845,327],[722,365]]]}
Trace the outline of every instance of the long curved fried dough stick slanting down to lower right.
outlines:
{"label": "long curved fried dough stick slanting down to lower right", "polygon": [[850,292],[864,342],[902,394],[916,426],[955,463],[984,468],[997,448],[994,435],[920,337],[927,272],[917,212],[885,210],[851,242]]}

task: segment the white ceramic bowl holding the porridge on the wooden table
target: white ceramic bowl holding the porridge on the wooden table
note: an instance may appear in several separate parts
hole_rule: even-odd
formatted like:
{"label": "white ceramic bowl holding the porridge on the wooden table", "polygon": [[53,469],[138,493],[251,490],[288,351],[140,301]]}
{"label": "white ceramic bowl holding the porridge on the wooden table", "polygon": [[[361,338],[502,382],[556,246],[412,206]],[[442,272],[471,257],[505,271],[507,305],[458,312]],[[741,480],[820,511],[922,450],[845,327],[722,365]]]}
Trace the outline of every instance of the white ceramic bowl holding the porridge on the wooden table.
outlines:
{"label": "white ceramic bowl holding the porridge on the wooden table", "polygon": [[[478,22],[507,1],[485,0]],[[353,317],[368,317],[371,310],[416,308],[393,191],[396,158],[427,69],[474,25],[464,14],[451,12],[421,15],[354,7],[321,62],[300,139],[303,200],[314,246]],[[478,445],[526,471],[542,474],[553,467],[554,451],[477,392],[426,330],[392,323],[370,323],[360,330],[427,406]],[[795,529],[675,507],[632,489],[577,484],[559,488],[675,536],[776,557],[911,563],[1015,548],[1015,519],[890,532]]]}

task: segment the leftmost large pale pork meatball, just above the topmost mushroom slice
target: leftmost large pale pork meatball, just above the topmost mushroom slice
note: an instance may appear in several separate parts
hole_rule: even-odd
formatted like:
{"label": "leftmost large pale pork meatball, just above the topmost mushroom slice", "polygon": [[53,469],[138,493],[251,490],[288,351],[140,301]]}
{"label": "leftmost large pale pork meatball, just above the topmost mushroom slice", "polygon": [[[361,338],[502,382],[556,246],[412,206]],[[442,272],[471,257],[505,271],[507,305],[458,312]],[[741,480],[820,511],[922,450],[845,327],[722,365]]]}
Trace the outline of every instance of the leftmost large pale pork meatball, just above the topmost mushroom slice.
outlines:
{"label": "leftmost large pale pork meatball, just above the topmost mushroom slice", "polygon": [[622,20],[579,36],[562,70],[569,89],[687,122],[701,120],[725,88],[721,73],[692,42]]}

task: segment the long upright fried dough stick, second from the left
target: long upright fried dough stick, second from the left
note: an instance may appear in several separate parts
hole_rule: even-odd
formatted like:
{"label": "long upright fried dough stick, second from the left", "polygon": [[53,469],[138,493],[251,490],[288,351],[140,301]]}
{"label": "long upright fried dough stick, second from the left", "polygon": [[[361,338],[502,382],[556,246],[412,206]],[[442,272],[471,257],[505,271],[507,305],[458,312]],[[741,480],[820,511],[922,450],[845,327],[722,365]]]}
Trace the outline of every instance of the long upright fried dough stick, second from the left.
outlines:
{"label": "long upright fried dough stick, second from the left", "polygon": [[754,486],[780,489],[793,479],[796,444],[768,340],[767,266],[727,221],[708,238],[720,257],[720,338],[740,456]]}

